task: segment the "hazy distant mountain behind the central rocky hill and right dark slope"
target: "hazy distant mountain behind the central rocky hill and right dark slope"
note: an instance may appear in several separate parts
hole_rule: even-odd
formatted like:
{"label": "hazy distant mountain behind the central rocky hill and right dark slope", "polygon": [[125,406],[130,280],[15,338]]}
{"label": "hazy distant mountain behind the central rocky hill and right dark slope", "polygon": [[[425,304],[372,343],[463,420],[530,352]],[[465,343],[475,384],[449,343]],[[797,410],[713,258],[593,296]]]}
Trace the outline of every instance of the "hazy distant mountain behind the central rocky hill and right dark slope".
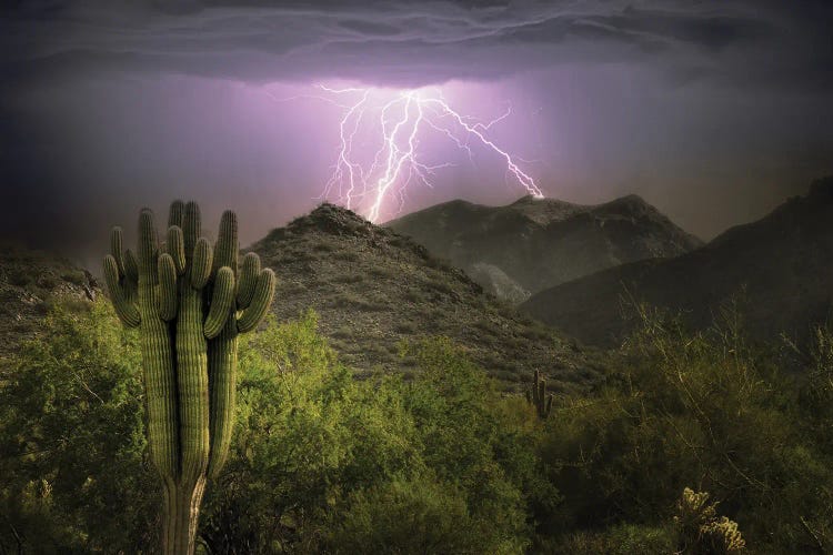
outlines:
{"label": "hazy distant mountain behind the central rocky hill and right dark slope", "polygon": [[702,244],[636,195],[598,205],[532,196],[506,206],[456,200],[387,226],[512,303],[600,270],[676,256]]}

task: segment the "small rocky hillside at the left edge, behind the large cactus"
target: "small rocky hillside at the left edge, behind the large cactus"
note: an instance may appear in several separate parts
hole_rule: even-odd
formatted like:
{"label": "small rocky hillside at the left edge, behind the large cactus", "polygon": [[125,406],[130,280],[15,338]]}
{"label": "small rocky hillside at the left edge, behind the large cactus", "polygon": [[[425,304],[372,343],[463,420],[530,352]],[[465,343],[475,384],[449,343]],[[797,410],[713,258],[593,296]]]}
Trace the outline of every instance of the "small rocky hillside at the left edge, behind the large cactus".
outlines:
{"label": "small rocky hillside at the left edge, behind the large cactus", "polygon": [[96,279],[69,261],[0,242],[0,360],[34,336],[56,300],[86,303],[99,293]]}

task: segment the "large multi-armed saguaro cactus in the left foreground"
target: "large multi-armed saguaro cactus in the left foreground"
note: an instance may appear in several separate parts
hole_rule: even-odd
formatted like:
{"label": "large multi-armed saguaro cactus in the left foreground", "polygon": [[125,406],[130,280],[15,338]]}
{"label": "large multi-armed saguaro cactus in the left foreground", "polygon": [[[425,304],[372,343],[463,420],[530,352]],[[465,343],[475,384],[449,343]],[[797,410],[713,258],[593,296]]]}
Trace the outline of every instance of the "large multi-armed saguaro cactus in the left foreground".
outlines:
{"label": "large multi-armed saguaro cactus in the left foreground", "polygon": [[257,254],[245,255],[238,275],[237,228],[234,213],[224,212],[212,249],[200,236],[197,204],[175,201],[162,245],[144,209],[138,255],[123,250],[114,228],[104,258],[116,312],[141,337],[148,444],[164,491],[165,554],[193,553],[205,481],[229,453],[238,334],[257,327],[274,295],[274,273],[260,269]]}

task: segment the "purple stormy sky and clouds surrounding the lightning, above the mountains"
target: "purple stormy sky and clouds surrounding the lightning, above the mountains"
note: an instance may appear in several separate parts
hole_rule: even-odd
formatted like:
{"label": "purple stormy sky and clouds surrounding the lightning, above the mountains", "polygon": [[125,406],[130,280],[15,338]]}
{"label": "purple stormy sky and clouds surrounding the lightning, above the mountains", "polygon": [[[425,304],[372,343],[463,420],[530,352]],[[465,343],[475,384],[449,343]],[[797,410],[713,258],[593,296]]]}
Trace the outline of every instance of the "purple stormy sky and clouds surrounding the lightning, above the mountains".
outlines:
{"label": "purple stormy sky and clouds surrounding the lightning, above the mountains", "polygon": [[[490,138],[548,196],[636,193],[703,239],[833,173],[825,1],[127,4],[0,8],[2,236],[97,264],[111,224],[182,196],[257,240],[335,161],[343,110],[274,100],[315,83],[433,87],[486,121],[509,103]],[[405,211],[523,194],[440,139],[426,160],[455,165]]]}

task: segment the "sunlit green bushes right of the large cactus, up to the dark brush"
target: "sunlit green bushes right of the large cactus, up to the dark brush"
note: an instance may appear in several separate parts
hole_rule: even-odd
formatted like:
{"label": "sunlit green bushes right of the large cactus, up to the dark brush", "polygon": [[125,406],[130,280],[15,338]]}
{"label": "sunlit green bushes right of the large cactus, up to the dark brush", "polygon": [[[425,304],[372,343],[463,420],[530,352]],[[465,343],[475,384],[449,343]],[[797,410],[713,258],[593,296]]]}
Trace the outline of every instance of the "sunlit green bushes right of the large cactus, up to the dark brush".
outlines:
{"label": "sunlit green bushes right of the large cactus, up to the dark brush", "polygon": [[[521,552],[525,500],[549,493],[536,482],[529,421],[496,413],[503,405],[489,380],[446,340],[413,349],[421,372],[412,382],[358,382],[315,327],[307,313],[248,343],[233,456],[209,494],[205,544]],[[431,534],[409,533],[409,514]]]}

